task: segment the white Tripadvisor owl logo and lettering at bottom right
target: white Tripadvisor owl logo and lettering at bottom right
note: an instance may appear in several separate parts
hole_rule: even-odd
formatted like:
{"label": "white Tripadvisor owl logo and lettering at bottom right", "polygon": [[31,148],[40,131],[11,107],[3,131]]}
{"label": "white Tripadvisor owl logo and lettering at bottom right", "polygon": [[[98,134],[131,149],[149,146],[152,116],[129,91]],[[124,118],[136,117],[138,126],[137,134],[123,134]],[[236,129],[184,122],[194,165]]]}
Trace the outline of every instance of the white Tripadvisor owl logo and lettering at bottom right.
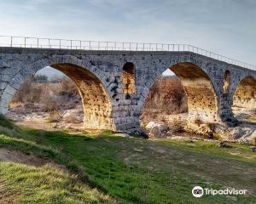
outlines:
{"label": "white Tripadvisor owl logo and lettering at bottom right", "polygon": [[247,190],[225,189],[225,190],[213,190],[203,189],[201,186],[195,186],[192,190],[194,197],[201,197],[202,195],[245,195]]}

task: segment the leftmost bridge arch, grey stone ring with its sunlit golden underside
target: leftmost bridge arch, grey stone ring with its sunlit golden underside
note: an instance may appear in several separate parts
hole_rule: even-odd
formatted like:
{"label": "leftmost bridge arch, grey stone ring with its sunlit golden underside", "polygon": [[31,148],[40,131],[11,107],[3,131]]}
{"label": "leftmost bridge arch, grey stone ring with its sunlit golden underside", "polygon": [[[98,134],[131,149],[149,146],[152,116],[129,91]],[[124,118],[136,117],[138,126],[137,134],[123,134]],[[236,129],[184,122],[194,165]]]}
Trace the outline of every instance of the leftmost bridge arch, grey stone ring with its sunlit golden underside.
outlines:
{"label": "leftmost bridge arch, grey stone ring with its sunlit golden underside", "polygon": [[[76,83],[84,106],[84,127],[115,130],[112,118],[111,91],[106,88],[105,77],[95,65],[73,56],[54,56],[29,63],[18,71],[5,88],[1,97],[1,111],[8,110],[9,101],[26,80],[45,66],[62,71]],[[86,67],[86,68],[85,68]]]}

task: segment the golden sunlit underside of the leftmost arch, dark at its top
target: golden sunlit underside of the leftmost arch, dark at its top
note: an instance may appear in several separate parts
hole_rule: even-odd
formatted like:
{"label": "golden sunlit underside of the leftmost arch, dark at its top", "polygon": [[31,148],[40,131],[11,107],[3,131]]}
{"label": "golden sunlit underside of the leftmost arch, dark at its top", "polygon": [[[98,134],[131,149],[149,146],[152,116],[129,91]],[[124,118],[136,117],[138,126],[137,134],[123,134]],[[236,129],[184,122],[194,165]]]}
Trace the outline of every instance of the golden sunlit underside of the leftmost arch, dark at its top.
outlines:
{"label": "golden sunlit underside of the leftmost arch, dark at its top", "polygon": [[90,71],[67,63],[50,65],[75,82],[84,108],[84,128],[113,129],[112,105],[102,82]]}

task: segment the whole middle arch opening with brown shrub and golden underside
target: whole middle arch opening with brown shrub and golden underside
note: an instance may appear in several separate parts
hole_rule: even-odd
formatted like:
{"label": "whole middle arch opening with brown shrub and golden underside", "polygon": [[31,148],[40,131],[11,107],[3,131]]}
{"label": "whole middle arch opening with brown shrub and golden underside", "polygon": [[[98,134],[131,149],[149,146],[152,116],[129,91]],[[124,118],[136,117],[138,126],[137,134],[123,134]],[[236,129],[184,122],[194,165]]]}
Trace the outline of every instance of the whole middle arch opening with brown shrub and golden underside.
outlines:
{"label": "whole middle arch opening with brown shrub and golden underside", "polygon": [[[148,104],[160,105],[161,110],[166,110],[159,111],[158,117],[154,116],[155,110],[151,110],[148,116],[154,118],[150,120],[178,126],[178,129],[183,127],[183,130],[189,132],[212,134],[212,124],[220,122],[220,119],[216,94],[207,73],[192,63],[178,63],[168,71],[172,71],[174,76],[160,77],[154,82],[143,105],[143,115],[148,111]],[[168,97],[165,99],[159,95]],[[146,125],[145,122],[141,124]]]}

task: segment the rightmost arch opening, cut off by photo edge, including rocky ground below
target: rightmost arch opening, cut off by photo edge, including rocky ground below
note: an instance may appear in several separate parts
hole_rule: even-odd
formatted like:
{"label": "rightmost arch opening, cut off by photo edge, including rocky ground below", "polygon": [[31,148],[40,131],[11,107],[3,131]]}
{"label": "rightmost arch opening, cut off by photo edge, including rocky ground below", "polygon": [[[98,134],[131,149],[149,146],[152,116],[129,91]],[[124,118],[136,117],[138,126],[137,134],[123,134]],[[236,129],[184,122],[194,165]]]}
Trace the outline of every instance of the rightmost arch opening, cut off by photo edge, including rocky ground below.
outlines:
{"label": "rightmost arch opening, cut off by photo edge, including rocky ground below", "polygon": [[245,77],[233,95],[232,111],[238,121],[256,122],[256,80]]}

